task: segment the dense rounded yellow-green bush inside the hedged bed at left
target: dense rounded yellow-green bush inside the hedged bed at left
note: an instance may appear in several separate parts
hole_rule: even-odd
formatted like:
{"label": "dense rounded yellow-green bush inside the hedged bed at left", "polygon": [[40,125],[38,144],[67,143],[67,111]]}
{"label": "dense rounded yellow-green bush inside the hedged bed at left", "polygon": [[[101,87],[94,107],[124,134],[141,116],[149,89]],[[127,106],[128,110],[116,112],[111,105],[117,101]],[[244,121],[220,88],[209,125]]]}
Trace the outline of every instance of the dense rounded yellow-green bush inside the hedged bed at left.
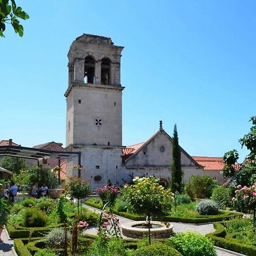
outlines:
{"label": "dense rounded yellow-green bush inside the hedged bed at left", "polygon": [[27,208],[23,213],[24,226],[27,228],[46,226],[47,216],[36,208]]}

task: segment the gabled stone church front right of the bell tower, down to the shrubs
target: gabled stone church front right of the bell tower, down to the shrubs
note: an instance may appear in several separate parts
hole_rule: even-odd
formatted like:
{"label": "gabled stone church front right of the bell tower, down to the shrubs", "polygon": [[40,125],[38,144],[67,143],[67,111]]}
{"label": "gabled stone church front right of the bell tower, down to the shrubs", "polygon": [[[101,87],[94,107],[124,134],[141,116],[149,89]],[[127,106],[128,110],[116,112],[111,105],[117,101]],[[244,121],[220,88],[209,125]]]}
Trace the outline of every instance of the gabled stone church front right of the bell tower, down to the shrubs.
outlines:
{"label": "gabled stone church front right of the bell tower, down to the shrubs", "polygon": [[[133,146],[131,146],[133,148]],[[129,155],[128,155],[129,156]],[[165,183],[170,181],[170,164],[172,162],[172,138],[164,130],[159,130],[147,142],[141,143],[140,147],[132,151],[124,160],[123,175],[125,180],[131,176],[155,175]],[[181,166],[184,172],[184,183],[189,177],[203,175],[203,167],[181,148]]]}

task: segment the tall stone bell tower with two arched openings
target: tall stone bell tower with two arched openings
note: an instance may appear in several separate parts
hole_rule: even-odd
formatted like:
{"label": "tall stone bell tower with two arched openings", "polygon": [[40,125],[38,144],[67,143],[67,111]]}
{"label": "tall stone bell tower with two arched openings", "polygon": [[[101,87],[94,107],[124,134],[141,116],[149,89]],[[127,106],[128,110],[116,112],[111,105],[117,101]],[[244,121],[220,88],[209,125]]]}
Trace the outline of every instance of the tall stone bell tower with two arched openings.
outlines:
{"label": "tall stone bell tower with two arched openings", "polygon": [[[81,178],[93,188],[115,183],[122,158],[121,52],[111,38],[83,34],[68,52],[66,146],[81,151]],[[67,159],[67,175],[76,176]]]}

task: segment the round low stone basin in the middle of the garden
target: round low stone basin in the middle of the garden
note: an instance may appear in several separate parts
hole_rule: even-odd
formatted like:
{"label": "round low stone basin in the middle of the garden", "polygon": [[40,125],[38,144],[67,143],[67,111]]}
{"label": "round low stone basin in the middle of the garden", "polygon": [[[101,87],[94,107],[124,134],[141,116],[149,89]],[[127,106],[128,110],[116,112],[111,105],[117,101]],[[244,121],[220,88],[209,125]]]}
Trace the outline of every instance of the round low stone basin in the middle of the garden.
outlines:
{"label": "round low stone basin in the middle of the garden", "polygon": [[[145,224],[145,221],[130,221],[125,222],[121,225],[122,233],[126,237],[131,238],[140,238],[144,234],[148,234],[148,228],[142,228],[142,224]],[[160,221],[151,221],[150,224],[152,228],[150,229],[150,234],[154,238],[168,238],[172,234],[173,225],[167,226]]]}

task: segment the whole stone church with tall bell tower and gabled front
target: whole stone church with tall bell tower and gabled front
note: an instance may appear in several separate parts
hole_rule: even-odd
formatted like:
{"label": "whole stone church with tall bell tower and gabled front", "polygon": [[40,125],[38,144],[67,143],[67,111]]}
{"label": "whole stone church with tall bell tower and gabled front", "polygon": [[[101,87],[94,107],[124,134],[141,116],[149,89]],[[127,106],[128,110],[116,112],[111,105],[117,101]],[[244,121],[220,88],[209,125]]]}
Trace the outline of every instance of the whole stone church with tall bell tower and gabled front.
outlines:
{"label": "whole stone church with tall bell tower and gabled front", "polygon": [[[170,182],[172,138],[159,130],[148,141],[122,145],[122,46],[111,38],[83,34],[68,52],[66,150],[81,152],[81,179],[93,189],[111,180],[123,184],[135,176],[155,175]],[[66,177],[77,176],[78,159],[68,157]],[[204,168],[181,148],[184,182]]]}

